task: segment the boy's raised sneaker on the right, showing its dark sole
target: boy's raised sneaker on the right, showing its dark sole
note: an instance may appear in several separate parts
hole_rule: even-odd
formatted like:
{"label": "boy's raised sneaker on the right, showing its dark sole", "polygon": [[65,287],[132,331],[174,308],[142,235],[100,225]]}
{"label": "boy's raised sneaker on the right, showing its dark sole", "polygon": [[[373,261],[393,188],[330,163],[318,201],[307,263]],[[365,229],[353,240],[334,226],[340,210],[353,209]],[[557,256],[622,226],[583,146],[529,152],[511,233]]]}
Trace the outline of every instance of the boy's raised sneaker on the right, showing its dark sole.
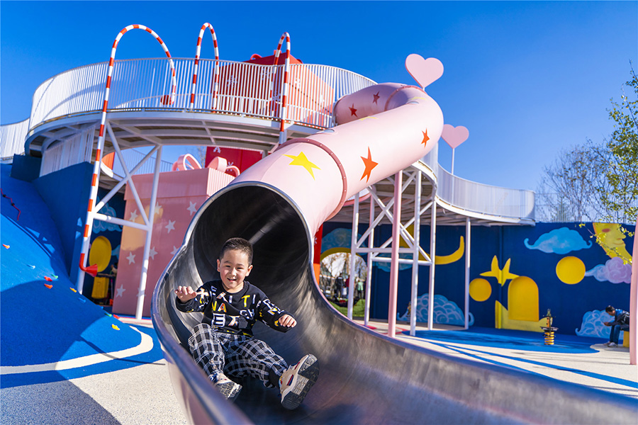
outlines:
{"label": "boy's raised sneaker on the right, showing its dark sole", "polygon": [[281,405],[289,410],[299,407],[310,387],[317,382],[318,375],[319,362],[312,354],[306,354],[299,363],[284,371],[279,378]]}

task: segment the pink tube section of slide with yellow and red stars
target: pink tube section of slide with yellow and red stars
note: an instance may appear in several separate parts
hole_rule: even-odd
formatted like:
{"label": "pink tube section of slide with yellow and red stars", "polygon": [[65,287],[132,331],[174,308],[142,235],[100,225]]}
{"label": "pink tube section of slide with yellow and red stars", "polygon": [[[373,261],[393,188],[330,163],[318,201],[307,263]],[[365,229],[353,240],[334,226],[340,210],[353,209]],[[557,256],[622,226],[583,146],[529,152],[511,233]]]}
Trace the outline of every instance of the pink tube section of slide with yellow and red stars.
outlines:
{"label": "pink tube section of slide with yellow and red stars", "polygon": [[285,142],[232,184],[278,188],[314,234],[349,197],[430,152],[443,130],[437,103],[405,84],[366,87],[341,98],[334,113],[337,126]]}

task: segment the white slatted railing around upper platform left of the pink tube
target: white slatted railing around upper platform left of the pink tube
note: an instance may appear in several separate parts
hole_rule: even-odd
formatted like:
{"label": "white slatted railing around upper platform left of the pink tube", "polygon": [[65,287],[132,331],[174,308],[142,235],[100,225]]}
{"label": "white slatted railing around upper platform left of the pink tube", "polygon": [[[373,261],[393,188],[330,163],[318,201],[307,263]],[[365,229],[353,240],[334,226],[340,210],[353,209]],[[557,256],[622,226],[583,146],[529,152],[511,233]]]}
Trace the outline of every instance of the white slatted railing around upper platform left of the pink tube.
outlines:
{"label": "white slatted railing around upper platform left of the pink tube", "polygon": [[[171,63],[177,90],[172,89]],[[33,96],[30,128],[55,118],[101,111],[106,85],[106,62],[69,69],[41,84]],[[216,67],[219,84],[214,84]],[[281,117],[284,65],[200,60],[191,105],[194,60],[118,60],[113,67],[109,111],[173,110],[216,112],[328,128],[332,105],[374,81],[345,69],[325,65],[292,64],[286,117]]]}

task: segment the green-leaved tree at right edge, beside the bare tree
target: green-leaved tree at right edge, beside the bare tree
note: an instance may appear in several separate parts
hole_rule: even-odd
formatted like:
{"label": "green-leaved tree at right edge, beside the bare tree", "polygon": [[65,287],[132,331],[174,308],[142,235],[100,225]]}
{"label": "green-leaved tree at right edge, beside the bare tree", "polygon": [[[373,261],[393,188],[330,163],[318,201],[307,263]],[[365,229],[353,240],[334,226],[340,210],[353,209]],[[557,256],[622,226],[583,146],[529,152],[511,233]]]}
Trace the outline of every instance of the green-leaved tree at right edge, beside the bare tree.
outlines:
{"label": "green-leaved tree at right edge, beside the bare tree", "polygon": [[632,79],[625,83],[634,100],[622,90],[620,104],[613,101],[609,111],[615,121],[614,132],[605,140],[608,157],[605,177],[609,187],[600,192],[603,205],[617,220],[632,222],[638,214],[638,78],[632,67]]}

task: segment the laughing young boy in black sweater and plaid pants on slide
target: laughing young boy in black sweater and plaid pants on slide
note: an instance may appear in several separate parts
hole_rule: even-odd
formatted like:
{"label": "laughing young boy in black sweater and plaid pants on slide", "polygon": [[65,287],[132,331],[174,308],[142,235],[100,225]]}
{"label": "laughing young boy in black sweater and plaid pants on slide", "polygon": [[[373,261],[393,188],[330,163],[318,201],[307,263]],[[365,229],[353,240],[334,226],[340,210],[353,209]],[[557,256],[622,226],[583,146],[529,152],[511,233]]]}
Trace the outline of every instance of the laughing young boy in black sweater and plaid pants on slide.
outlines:
{"label": "laughing young boy in black sweater and plaid pants on slide", "polygon": [[197,291],[190,286],[175,290],[177,310],[203,312],[202,323],[189,338],[193,358],[229,399],[234,400],[242,386],[226,374],[236,378],[249,375],[266,387],[279,387],[281,404],[296,409],[317,380],[317,358],[306,354],[289,367],[268,344],[252,336],[257,319],[282,332],[293,328],[296,320],[244,280],[252,270],[252,244],[246,239],[225,242],[217,270],[221,280],[206,282]]}

